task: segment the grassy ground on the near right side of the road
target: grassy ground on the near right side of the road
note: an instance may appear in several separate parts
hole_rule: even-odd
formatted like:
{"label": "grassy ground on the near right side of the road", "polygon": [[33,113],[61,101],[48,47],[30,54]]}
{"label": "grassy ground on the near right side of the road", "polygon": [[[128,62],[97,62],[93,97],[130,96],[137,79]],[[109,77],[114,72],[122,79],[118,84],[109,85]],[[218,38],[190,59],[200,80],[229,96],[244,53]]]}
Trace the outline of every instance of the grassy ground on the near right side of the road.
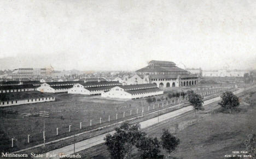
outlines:
{"label": "grassy ground on the near right side of the road", "polygon": [[[245,101],[246,97],[248,95],[241,96],[240,99]],[[143,131],[147,132],[148,136],[160,139],[163,127],[172,130],[176,123],[185,125],[184,130],[176,130],[176,136],[181,140],[181,144],[172,153],[172,158],[228,158],[224,156],[233,155],[232,151],[246,151],[243,144],[246,137],[248,134],[256,132],[255,100],[256,93],[252,97],[251,106],[243,105],[242,102],[238,108],[239,111],[231,114],[218,113],[216,109],[219,106],[217,103],[213,103],[205,111],[197,112],[196,116],[190,112]],[[216,113],[213,113],[213,109]],[[186,124],[191,120],[193,121],[192,125]],[[82,151],[80,154],[86,158],[109,158],[104,144]],[[165,157],[168,156],[165,150],[161,150],[161,154]],[[132,158],[139,158],[139,153],[135,149]]]}

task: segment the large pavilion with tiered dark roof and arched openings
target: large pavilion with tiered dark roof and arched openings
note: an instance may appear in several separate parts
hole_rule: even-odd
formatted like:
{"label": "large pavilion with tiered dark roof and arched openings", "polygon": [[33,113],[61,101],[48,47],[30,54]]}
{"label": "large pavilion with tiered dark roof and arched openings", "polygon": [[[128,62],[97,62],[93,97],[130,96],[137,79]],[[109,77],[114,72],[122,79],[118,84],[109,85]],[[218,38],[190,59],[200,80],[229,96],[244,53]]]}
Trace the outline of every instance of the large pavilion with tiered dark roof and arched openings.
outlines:
{"label": "large pavilion with tiered dark roof and arched openings", "polygon": [[152,60],[145,68],[136,71],[138,76],[143,76],[145,81],[156,84],[159,88],[184,87],[200,84],[196,75],[178,68],[175,63],[168,61]]}

